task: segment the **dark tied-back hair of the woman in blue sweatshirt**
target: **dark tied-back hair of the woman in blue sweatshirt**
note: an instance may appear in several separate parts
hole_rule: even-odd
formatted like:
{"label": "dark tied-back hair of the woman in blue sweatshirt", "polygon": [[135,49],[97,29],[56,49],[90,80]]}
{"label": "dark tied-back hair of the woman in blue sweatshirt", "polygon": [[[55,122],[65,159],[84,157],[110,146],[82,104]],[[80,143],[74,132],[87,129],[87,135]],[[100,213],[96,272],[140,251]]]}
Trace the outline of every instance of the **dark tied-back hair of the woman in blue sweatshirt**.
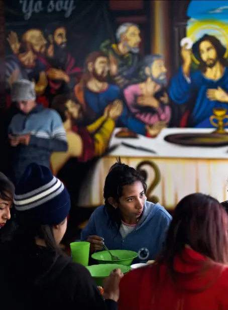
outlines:
{"label": "dark tied-back hair of the woman in blue sweatshirt", "polygon": [[124,186],[131,185],[136,181],[142,182],[143,189],[146,192],[147,184],[144,177],[135,168],[123,164],[120,158],[117,163],[111,166],[105,178],[103,189],[104,205],[111,224],[117,225],[118,228],[121,226],[122,215],[119,208],[115,209],[109,204],[108,198],[112,197],[116,202],[119,202],[123,195]]}

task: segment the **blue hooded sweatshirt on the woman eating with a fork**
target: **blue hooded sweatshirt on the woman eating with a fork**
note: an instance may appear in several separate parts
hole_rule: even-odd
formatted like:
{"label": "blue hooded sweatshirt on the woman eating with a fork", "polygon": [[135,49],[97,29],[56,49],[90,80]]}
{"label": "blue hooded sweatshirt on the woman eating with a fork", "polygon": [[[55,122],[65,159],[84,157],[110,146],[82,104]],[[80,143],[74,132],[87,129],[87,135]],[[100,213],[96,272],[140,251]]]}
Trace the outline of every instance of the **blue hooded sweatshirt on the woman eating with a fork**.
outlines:
{"label": "blue hooded sweatshirt on the woman eating with a fork", "polygon": [[159,204],[146,201],[143,214],[135,230],[123,239],[118,227],[111,225],[105,206],[98,207],[81,232],[81,240],[90,235],[104,238],[109,250],[130,250],[138,253],[134,263],[154,260],[161,251],[171,215]]}

